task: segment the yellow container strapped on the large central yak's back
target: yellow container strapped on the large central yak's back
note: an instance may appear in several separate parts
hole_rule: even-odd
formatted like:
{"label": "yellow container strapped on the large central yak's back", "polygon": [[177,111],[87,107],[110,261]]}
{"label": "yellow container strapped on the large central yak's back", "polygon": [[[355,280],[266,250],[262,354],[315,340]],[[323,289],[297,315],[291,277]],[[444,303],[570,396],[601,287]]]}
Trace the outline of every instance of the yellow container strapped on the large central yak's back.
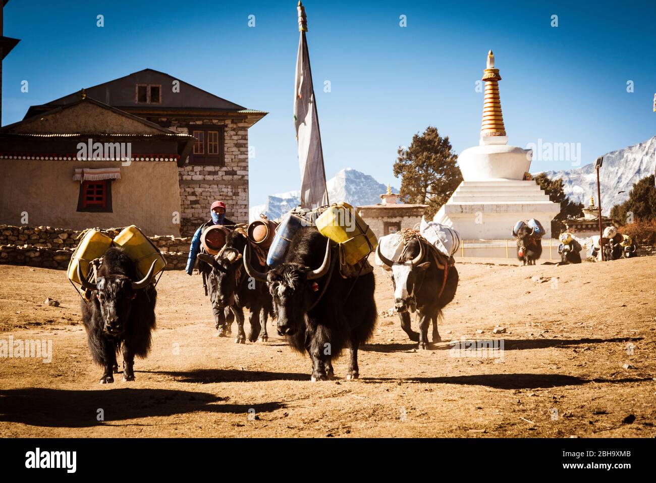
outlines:
{"label": "yellow container strapped on the large central yak's back", "polygon": [[355,265],[376,249],[378,240],[369,225],[348,203],[335,203],[316,219],[316,226],[326,238],[339,243],[344,263]]}

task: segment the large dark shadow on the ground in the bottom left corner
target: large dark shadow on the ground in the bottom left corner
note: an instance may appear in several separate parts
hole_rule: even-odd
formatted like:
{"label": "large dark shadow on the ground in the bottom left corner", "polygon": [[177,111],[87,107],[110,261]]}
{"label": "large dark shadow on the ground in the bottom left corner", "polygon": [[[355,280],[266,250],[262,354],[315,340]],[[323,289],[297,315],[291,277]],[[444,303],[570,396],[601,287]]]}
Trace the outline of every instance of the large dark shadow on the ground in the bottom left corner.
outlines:
{"label": "large dark shadow on the ground in the bottom left corner", "polygon": [[[195,411],[246,414],[251,408],[257,413],[266,413],[285,407],[280,402],[220,404],[222,401],[224,398],[206,392],[170,389],[5,389],[0,390],[0,421],[83,428],[108,425],[111,421]],[[104,411],[104,421],[96,420],[99,408]]]}

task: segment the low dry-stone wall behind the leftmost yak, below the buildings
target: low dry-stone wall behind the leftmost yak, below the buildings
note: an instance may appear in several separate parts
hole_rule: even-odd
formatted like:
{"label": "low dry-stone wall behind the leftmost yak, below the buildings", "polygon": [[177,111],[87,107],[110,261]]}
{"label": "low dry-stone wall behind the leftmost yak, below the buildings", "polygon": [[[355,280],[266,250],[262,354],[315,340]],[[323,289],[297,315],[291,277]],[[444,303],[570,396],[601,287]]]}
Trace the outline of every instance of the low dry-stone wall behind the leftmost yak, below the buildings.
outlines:
{"label": "low dry-stone wall behind the leftmost yak, below the buildings", "polygon": [[[100,232],[116,236],[123,228]],[[29,265],[66,270],[77,247],[81,231],[51,226],[9,226],[0,224],[0,264]],[[183,270],[187,264],[191,238],[149,236],[167,261],[167,270]]]}

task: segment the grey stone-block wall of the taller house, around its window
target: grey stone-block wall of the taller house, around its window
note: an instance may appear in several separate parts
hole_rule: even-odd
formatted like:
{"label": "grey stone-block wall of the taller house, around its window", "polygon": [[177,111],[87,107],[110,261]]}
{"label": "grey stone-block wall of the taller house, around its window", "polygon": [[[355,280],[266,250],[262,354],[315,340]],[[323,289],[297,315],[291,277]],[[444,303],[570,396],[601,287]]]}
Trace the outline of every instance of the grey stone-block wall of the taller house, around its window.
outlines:
{"label": "grey stone-block wall of the taller house, around its window", "polygon": [[209,208],[214,200],[226,203],[226,217],[232,221],[248,222],[249,123],[245,119],[171,119],[167,127],[178,133],[190,134],[194,125],[224,126],[225,165],[194,165],[187,162],[178,168],[182,209],[180,233],[183,236],[194,234],[195,229],[209,219]]}

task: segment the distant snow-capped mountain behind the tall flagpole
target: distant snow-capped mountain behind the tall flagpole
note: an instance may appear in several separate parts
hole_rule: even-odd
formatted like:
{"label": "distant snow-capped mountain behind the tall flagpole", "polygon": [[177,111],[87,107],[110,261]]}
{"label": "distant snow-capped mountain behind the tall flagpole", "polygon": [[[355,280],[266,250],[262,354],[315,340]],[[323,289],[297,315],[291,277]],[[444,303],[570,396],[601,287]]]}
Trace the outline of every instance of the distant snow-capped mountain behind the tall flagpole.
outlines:
{"label": "distant snow-capped mountain behind the tall flagpole", "polygon": [[[342,169],[335,177],[326,182],[328,199],[346,201],[353,206],[375,205],[380,203],[380,195],[387,192],[387,186],[356,169]],[[398,193],[392,188],[393,193]],[[256,220],[260,213],[269,219],[277,219],[290,209],[300,205],[300,191],[290,191],[272,194],[267,197],[264,205],[255,205],[249,209],[249,221]]]}

